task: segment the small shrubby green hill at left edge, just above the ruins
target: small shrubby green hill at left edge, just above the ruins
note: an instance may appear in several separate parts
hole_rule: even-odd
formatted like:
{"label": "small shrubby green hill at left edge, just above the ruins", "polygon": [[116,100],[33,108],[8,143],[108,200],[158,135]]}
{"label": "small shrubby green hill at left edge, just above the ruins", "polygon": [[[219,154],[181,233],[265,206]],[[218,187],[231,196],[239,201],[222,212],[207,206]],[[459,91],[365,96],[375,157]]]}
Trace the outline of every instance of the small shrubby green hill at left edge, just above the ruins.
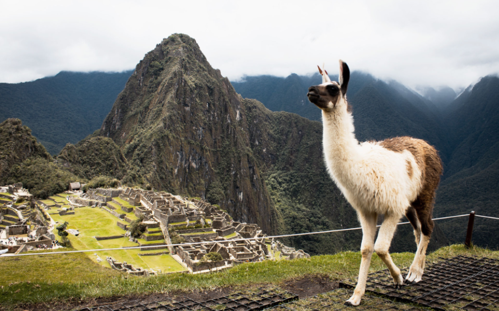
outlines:
{"label": "small shrubby green hill at left edge, just above the ruins", "polygon": [[0,123],[0,185],[21,182],[36,197],[46,198],[67,190],[78,180],[53,163],[45,148],[19,119]]}

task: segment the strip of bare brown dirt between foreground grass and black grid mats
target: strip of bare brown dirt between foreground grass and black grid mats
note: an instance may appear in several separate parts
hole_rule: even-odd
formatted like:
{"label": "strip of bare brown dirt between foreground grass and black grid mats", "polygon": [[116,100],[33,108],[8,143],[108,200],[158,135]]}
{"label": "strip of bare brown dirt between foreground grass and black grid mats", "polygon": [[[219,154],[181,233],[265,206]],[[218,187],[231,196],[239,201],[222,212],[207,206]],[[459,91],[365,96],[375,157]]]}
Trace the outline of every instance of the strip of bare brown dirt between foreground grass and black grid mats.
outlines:
{"label": "strip of bare brown dirt between foreground grass and black grid mats", "polygon": [[[275,285],[273,285],[275,287]],[[270,284],[258,284],[251,286],[250,289],[263,289],[267,287],[272,287]],[[300,279],[287,280],[277,287],[281,290],[285,290],[289,293],[298,295],[300,299],[312,297],[318,294],[327,293],[338,288],[337,282],[332,282],[326,275],[308,275]],[[203,302],[211,299],[217,299],[224,296],[228,296],[237,292],[244,292],[248,290],[248,287],[237,288],[237,287],[226,287],[218,288],[214,290],[197,291],[197,292],[171,292],[168,294],[149,294],[149,295],[133,295],[133,296],[120,296],[120,297],[100,297],[93,299],[78,300],[72,299],[68,301],[52,301],[49,303],[39,303],[31,305],[18,306],[16,310],[19,311],[59,311],[59,310],[75,310],[82,309],[85,307],[97,307],[104,305],[120,305],[122,303],[140,301],[143,304],[152,303],[156,301],[163,301],[166,299],[176,299],[176,298],[189,298],[197,302]],[[1,309],[1,308],[0,308]]]}

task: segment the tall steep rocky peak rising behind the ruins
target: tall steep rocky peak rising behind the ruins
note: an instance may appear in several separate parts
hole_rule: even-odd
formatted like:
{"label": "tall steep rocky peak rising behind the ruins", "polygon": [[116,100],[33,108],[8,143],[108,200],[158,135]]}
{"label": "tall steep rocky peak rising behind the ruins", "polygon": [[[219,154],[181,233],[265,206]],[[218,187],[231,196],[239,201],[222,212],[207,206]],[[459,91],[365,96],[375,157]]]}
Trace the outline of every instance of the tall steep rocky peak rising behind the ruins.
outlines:
{"label": "tall steep rocky peak rising behind the ruins", "polygon": [[247,108],[192,38],[164,39],[137,65],[101,127],[156,189],[206,197],[274,232],[277,213],[251,149]]}

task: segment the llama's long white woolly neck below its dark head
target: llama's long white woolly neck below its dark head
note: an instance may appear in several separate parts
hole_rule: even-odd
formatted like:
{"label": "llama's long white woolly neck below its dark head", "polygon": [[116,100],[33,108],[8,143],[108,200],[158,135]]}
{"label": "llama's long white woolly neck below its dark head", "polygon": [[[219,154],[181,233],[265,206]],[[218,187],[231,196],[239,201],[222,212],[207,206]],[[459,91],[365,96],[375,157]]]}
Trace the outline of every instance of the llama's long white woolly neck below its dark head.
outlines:
{"label": "llama's long white woolly neck below its dark head", "polygon": [[355,138],[353,118],[343,109],[322,110],[323,145],[327,167],[333,178],[341,182],[360,158],[359,142]]}

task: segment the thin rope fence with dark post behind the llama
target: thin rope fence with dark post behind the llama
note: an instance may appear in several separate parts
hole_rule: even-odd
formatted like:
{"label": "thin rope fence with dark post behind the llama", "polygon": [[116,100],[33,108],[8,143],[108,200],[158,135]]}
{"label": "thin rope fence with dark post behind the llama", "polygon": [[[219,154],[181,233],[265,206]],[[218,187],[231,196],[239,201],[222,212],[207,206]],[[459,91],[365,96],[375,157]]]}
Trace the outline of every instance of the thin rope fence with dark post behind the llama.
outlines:
{"label": "thin rope fence with dark post behind the llama", "polygon": [[[468,222],[468,232],[466,235],[466,241],[465,245],[467,247],[470,247],[471,245],[471,236],[473,233],[473,224],[474,224],[474,218],[475,216],[477,217],[482,217],[482,218],[490,218],[490,219],[496,219],[499,220],[499,218],[496,217],[490,217],[490,216],[482,216],[482,215],[475,215],[475,212],[471,212],[470,214],[463,214],[463,215],[456,215],[456,216],[448,216],[448,217],[440,217],[440,218],[433,218],[432,220],[443,220],[443,219],[451,219],[451,218],[458,218],[458,217],[465,217],[468,216],[469,222]],[[397,225],[406,225],[409,224],[409,222],[403,222],[403,223],[398,223]],[[381,225],[377,225],[376,227],[381,227]],[[239,241],[251,241],[251,240],[271,240],[271,239],[276,239],[276,238],[288,238],[288,237],[299,237],[299,236],[308,236],[308,235],[315,235],[315,234],[325,234],[325,233],[334,233],[334,232],[343,232],[343,231],[353,231],[353,230],[360,230],[362,229],[361,227],[357,228],[348,228],[348,229],[337,229],[337,230],[327,230],[327,231],[317,231],[317,232],[306,232],[306,233],[295,233],[295,234],[284,234],[284,235],[278,235],[278,236],[268,236],[268,237],[260,237],[260,238],[241,238],[241,239],[231,239],[228,240],[230,242],[239,242]],[[175,246],[187,246],[187,245],[206,245],[206,244],[216,244],[219,243],[220,241],[207,241],[207,242],[192,242],[192,243],[181,243],[181,244],[164,244],[162,246],[165,247],[175,247]],[[148,249],[148,248],[155,248],[158,247],[157,245],[153,246],[133,246],[133,247],[120,247],[120,248],[108,248],[108,249],[94,249],[94,250],[79,250],[79,251],[63,251],[63,252],[47,252],[47,253],[30,253],[30,254],[13,254],[9,255],[6,257],[14,257],[14,256],[33,256],[33,255],[53,255],[53,254],[71,254],[71,253],[88,253],[88,252],[102,252],[102,251],[116,251],[116,250],[133,250],[133,249]]]}

